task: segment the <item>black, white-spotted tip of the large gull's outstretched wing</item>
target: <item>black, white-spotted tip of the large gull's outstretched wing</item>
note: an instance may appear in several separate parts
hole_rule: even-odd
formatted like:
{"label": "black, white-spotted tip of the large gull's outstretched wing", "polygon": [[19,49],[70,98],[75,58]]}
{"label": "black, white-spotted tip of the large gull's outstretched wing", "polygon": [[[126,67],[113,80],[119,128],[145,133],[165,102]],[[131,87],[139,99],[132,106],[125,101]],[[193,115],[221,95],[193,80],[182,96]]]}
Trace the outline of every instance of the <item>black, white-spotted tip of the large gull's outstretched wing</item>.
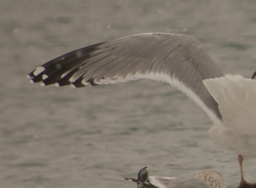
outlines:
{"label": "black, white-spotted tip of the large gull's outstretched wing", "polygon": [[82,78],[77,81],[74,80],[75,83],[70,82],[69,79],[76,74],[80,66],[86,63],[86,60],[91,57],[92,52],[99,50],[100,45],[103,43],[104,42],[79,48],[67,54],[63,54],[60,57],[56,57],[38,66],[38,68],[31,71],[27,77],[31,80],[31,83],[42,82],[43,85],[57,83],[58,86],[73,84],[74,87],[84,87],[86,85],[83,85]]}

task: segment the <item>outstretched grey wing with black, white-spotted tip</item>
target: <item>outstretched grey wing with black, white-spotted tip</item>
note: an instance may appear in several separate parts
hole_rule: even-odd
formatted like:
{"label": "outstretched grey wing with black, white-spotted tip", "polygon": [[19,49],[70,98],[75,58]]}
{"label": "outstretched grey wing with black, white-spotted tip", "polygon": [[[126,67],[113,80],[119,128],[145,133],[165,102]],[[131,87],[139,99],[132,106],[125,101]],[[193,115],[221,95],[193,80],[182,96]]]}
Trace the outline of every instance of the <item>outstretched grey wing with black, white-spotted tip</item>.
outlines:
{"label": "outstretched grey wing with black, white-spotted tip", "polygon": [[42,85],[86,87],[148,78],[170,83],[203,108],[212,121],[221,119],[216,101],[202,80],[222,76],[193,37],[144,33],[97,43],[61,55],[29,73]]}

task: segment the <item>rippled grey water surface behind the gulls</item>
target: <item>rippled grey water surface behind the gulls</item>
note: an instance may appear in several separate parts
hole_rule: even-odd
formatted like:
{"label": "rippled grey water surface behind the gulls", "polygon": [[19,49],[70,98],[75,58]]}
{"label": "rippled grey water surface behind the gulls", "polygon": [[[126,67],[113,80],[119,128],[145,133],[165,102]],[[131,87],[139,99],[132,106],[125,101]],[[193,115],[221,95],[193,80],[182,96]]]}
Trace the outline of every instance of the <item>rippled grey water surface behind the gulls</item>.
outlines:
{"label": "rippled grey water surface behind the gulls", "polygon": [[[40,87],[26,75],[70,50],[136,33],[191,34],[224,73],[256,69],[254,0],[0,0],[0,187],[136,187],[119,177],[219,170],[239,183],[233,152],[170,85]],[[256,180],[256,160],[244,161]]]}

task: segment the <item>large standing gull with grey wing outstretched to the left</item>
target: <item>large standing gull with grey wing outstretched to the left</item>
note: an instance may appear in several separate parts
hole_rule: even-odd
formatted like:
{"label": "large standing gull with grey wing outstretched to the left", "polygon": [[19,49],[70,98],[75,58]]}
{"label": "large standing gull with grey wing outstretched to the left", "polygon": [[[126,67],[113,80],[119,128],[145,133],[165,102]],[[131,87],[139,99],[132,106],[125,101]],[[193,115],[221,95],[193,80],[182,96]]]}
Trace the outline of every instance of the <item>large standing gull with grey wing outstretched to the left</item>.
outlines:
{"label": "large standing gull with grey wing outstretched to the left", "polygon": [[213,122],[209,136],[243,158],[256,157],[256,73],[223,75],[193,36],[142,33],[96,43],[56,57],[29,73],[31,83],[90,87],[147,78],[170,83]]}

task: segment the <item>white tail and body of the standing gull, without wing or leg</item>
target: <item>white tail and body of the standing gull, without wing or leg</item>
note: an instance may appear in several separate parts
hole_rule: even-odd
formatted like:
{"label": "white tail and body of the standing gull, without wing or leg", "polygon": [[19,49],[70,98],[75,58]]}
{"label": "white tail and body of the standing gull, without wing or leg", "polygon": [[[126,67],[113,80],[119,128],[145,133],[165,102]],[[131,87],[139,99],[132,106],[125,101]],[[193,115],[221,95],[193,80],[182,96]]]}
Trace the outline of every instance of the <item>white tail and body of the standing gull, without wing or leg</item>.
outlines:
{"label": "white tail and body of the standing gull, without wing or leg", "polygon": [[256,80],[225,75],[203,82],[222,116],[222,121],[209,130],[209,136],[221,147],[244,157],[256,157]]}

